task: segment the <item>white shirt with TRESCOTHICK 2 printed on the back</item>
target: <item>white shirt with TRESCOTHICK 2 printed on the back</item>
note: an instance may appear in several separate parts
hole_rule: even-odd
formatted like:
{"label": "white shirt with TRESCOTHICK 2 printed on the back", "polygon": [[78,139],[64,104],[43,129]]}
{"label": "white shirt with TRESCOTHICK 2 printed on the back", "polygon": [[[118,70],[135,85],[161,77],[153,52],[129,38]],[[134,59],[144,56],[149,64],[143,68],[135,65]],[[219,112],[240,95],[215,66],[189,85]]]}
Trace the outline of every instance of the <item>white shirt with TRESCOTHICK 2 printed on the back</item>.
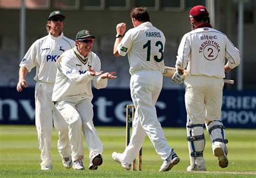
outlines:
{"label": "white shirt with TRESCOTHICK 2 printed on the back", "polygon": [[187,66],[187,75],[206,75],[225,78],[225,59],[230,68],[240,63],[237,48],[224,33],[201,27],[186,33],[181,39],[176,68]]}

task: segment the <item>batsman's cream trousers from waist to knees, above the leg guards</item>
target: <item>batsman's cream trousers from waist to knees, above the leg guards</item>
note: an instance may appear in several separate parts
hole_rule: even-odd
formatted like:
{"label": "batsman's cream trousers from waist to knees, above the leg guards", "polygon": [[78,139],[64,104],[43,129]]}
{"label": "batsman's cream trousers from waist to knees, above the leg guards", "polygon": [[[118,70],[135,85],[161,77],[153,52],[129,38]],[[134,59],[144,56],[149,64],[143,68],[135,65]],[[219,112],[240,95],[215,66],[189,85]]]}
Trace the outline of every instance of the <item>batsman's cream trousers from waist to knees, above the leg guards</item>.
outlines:
{"label": "batsman's cream trousers from waist to knees, above the leg guards", "polygon": [[220,120],[223,79],[208,76],[187,76],[185,105],[189,125]]}

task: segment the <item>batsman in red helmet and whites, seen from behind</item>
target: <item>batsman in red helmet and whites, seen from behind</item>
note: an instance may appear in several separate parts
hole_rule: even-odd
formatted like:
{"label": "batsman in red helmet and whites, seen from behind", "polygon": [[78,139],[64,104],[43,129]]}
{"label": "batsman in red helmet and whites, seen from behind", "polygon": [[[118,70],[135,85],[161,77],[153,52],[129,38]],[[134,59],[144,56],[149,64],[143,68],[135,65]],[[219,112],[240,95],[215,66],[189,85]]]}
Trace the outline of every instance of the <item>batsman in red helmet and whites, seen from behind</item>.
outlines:
{"label": "batsman in red helmet and whites, seen from behind", "polygon": [[[172,81],[186,86],[187,140],[190,152],[188,171],[206,170],[203,157],[206,126],[212,142],[213,154],[219,166],[228,166],[227,139],[221,123],[221,105],[225,72],[240,63],[239,51],[227,36],[210,25],[207,9],[194,6],[190,11],[192,31],[181,39]],[[225,64],[225,59],[227,63]]]}

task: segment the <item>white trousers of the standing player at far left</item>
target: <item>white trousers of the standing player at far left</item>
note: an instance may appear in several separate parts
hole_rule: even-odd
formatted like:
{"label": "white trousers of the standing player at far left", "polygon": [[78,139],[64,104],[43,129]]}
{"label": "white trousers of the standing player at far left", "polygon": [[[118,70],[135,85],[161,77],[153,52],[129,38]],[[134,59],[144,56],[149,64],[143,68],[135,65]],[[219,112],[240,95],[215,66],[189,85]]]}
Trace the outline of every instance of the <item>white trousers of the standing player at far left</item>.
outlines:
{"label": "white trousers of the standing player at far left", "polygon": [[[39,149],[41,151],[41,167],[52,165],[51,136],[53,122],[59,134],[58,152],[62,158],[69,156],[70,144],[68,125],[52,103],[53,84],[37,82],[35,87],[35,120],[38,134]],[[66,135],[66,136],[65,136]]]}

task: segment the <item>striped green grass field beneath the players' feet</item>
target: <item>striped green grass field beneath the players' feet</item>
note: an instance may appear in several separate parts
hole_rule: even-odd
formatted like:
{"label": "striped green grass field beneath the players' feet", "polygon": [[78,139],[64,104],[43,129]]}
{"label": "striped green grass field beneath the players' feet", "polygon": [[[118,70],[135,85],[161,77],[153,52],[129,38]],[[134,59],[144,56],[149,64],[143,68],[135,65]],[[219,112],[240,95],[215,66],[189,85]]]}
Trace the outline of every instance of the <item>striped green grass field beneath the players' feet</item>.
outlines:
{"label": "striped green grass field beneath the players' feet", "polygon": [[40,152],[35,126],[0,125],[0,177],[256,177],[256,130],[226,129],[229,143],[230,165],[220,168],[213,156],[210,141],[206,135],[204,157],[207,172],[188,173],[189,165],[186,131],[165,128],[169,144],[180,157],[180,162],[170,172],[159,173],[162,160],[154,151],[149,139],[143,144],[142,172],[126,171],[112,160],[113,151],[122,152],[125,148],[125,127],[96,127],[104,145],[103,165],[96,171],[87,169],[88,150],[85,145],[85,170],[75,171],[62,166],[57,152],[57,132],[53,131],[52,161],[53,170],[40,170]]}

